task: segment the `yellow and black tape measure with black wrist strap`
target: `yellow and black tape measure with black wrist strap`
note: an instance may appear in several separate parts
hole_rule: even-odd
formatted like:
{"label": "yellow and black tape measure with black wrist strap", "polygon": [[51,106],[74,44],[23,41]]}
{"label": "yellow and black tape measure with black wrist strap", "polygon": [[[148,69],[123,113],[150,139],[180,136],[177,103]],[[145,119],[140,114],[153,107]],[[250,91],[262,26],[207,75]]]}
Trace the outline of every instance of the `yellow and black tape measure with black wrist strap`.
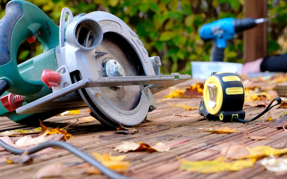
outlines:
{"label": "yellow and black tape measure with black wrist strap", "polygon": [[[272,107],[281,103],[281,98],[275,98],[262,113],[247,121],[244,120],[245,111],[242,110],[244,99],[245,89],[238,75],[230,72],[212,72],[204,84],[199,115],[210,120],[246,123],[258,119]],[[272,106],[275,100],[278,103]]]}

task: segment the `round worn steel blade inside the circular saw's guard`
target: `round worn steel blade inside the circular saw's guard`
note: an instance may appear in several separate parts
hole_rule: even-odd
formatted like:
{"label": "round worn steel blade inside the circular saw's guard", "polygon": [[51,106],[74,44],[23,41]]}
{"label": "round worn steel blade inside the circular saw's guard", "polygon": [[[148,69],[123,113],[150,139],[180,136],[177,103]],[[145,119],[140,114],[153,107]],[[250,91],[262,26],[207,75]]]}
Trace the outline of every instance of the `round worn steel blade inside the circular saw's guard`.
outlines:
{"label": "round worn steel blade inside the circular saw's guard", "polygon": [[[125,45],[125,46],[124,46]],[[125,76],[140,76],[139,68],[132,59],[135,54],[132,54],[133,49],[127,48],[123,43],[123,39],[113,33],[105,33],[102,43],[96,47],[96,51],[107,52],[108,54],[99,57],[102,70],[99,71],[100,77],[104,75],[104,64],[110,60],[116,60],[124,69]],[[140,99],[143,85],[122,86],[117,87],[100,87],[99,88],[106,99],[119,109],[130,111],[133,110]]]}

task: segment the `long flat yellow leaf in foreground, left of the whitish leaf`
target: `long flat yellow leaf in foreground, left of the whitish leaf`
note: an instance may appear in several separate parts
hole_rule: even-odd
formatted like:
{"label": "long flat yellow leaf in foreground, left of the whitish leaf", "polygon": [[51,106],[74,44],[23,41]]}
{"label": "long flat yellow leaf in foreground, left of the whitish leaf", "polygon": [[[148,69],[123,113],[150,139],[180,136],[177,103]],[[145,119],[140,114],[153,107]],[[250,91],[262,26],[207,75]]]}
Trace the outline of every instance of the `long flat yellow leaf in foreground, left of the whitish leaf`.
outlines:
{"label": "long flat yellow leaf in foreground, left of the whitish leaf", "polygon": [[252,167],[256,159],[245,159],[228,161],[224,157],[218,157],[212,161],[186,161],[179,159],[182,162],[181,170],[200,173],[216,173],[224,171],[238,171],[244,168]]}

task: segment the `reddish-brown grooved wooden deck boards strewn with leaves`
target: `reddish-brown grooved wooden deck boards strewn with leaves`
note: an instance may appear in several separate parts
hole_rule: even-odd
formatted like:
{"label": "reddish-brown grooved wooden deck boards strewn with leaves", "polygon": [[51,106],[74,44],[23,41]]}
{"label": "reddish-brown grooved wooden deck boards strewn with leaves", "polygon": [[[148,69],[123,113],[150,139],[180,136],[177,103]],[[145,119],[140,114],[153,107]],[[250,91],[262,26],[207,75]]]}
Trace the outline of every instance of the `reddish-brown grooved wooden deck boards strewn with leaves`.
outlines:
{"label": "reddish-brown grooved wooden deck boards strewn with leaves", "polygon": [[[195,83],[195,80],[190,80],[180,86],[188,86]],[[203,82],[203,81],[201,81]],[[240,144],[244,132],[231,133],[231,134],[215,134],[212,132],[198,132],[199,127],[212,127],[212,126],[228,126],[232,128],[245,129],[247,126],[249,132],[255,136],[266,136],[265,140],[251,140],[244,139],[244,146],[254,147],[260,145],[271,146],[274,148],[286,148],[287,145],[287,132],[283,129],[273,129],[266,125],[255,125],[261,123],[262,118],[253,122],[243,124],[236,122],[222,123],[220,121],[211,121],[203,117],[180,117],[172,114],[190,115],[198,114],[200,100],[202,98],[173,98],[170,101],[160,101],[162,96],[167,95],[169,90],[166,89],[154,97],[158,104],[156,110],[148,113],[148,120],[151,122],[141,123],[136,128],[139,130],[137,134],[114,134],[114,131],[105,130],[99,122],[75,124],[72,125],[68,132],[74,136],[68,142],[80,150],[92,156],[92,152],[97,153],[112,153],[112,155],[127,155],[126,161],[131,162],[130,170],[127,176],[133,178],[166,178],[166,179],[217,179],[217,178],[232,178],[232,179],[270,179],[270,178],[287,178],[287,172],[273,173],[265,170],[260,164],[260,160],[255,163],[251,168],[240,170],[237,172],[220,172],[215,174],[201,174],[196,172],[186,172],[179,170],[181,162],[177,156],[190,161],[197,160],[212,160],[220,156],[222,148],[229,145]],[[197,110],[186,111],[184,108],[171,107],[170,104],[186,104],[194,106]],[[243,108],[246,112],[245,119],[251,119],[256,114],[263,111],[263,108],[245,106]],[[87,111],[87,110],[82,110]],[[278,108],[275,112],[275,117],[278,117],[283,112],[287,111],[286,108]],[[77,119],[80,117],[88,116],[88,113],[82,112],[79,115],[57,116],[47,119],[44,124],[49,127],[61,127],[67,124],[59,123],[62,120]],[[266,121],[266,115],[263,116]],[[51,123],[53,122],[53,123]],[[39,127],[39,126],[37,126]],[[32,129],[25,125],[19,125],[9,120],[6,117],[0,119],[0,132],[15,129]],[[13,137],[17,140],[20,137]],[[164,144],[172,144],[188,140],[185,143],[172,146],[170,151],[160,152],[130,152],[119,153],[113,151],[112,148],[122,141],[132,140],[133,142],[144,142],[147,144],[156,144],[164,142]],[[61,162],[64,165],[63,174],[70,176],[70,178],[108,178],[104,175],[88,175],[78,168],[82,159],[63,149],[45,150],[32,155],[33,161],[24,164],[8,164],[6,157],[11,156],[9,152],[0,152],[0,178],[5,179],[21,179],[32,178],[36,171],[45,165]],[[283,156],[284,157],[284,156]],[[53,178],[53,177],[52,177]],[[54,177],[61,178],[61,177]],[[69,178],[69,177],[66,177]]]}

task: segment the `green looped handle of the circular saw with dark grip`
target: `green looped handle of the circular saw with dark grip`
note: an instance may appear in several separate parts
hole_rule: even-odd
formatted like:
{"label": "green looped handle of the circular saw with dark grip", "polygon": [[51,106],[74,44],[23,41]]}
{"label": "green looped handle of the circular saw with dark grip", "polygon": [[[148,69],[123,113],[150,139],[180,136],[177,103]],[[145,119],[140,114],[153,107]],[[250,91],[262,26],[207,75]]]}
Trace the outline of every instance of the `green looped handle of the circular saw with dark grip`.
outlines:
{"label": "green looped handle of the circular saw with dark grip", "polygon": [[[5,16],[0,20],[0,80],[9,83],[10,93],[32,96],[49,90],[41,80],[23,78],[17,67],[20,43],[37,31],[43,53],[59,45],[59,27],[41,9],[23,0],[12,0],[6,5]],[[43,61],[43,66],[46,63]]]}

